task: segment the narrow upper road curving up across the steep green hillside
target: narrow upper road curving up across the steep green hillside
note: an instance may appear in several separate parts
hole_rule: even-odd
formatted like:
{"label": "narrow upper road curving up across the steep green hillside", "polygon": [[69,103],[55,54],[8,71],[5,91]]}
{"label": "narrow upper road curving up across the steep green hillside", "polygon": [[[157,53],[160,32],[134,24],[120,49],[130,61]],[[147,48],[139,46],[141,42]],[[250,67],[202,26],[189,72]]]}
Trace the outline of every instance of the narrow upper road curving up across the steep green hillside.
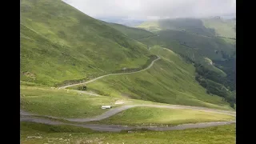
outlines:
{"label": "narrow upper road curving up across the steep green hillside", "polygon": [[154,61],[152,61],[150,63],[150,66],[147,66],[145,69],[143,70],[138,70],[138,71],[134,71],[134,72],[129,72],[129,73],[118,73],[118,74],[106,74],[106,75],[102,75],[98,78],[94,78],[94,79],[91,79],[87,82],[81,82],[81,83],[76,83],[76,84],[71,84],[71,85],[67,85],[67,86],[61,86],[61,87],[58,87],[59,89],[66,89],[67,87],[71,87],[71,86],[78,86],[78,85],[82,85],[82,84],[87,84],[87,83],[90,83],[90,82],[94,82],[100,78],[104,78],[104,77],[107,77],[107,76],[110,76],[110,75],[120,75],[120,74],[134,74],[134,73],[139,73],[139,72],[142,72],[142,71],[145,71],[145,70],[148,70],[150,69],[151,66],[153,66],[154,62],[158,61],[159,59],[161,59],[159,56],[157,59],[154,59]]}

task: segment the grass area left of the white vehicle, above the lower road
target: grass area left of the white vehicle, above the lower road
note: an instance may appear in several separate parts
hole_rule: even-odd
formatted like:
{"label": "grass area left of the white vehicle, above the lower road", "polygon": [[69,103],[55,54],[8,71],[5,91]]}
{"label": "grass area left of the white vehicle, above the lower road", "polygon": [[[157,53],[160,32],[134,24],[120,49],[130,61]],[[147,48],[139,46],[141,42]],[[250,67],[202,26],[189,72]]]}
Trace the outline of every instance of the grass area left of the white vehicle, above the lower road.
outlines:
{"label": "grass area left of the white vehicle, above the lower road", "polygon": [[89,96],[74,91],[46,87],[21,86],[21,108],[31,113],[62,118],[86,118],[106,112],[102,105],[112,105],[118,98]]}

